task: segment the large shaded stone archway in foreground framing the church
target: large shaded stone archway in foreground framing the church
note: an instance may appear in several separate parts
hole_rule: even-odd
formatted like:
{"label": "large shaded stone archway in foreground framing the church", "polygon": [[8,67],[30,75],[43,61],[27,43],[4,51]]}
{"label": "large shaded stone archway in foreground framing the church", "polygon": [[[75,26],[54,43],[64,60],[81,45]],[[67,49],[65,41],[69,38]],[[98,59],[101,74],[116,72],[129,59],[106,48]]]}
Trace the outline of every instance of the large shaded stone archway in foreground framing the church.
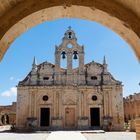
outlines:
{"label": "large shaded stone archway in foreground framing the church", "polygon": [[140,61],[138,0],[5,0],[0,2],[0,60],[23,32],[45,21],[80,18],[96,21],[126,40]]}

